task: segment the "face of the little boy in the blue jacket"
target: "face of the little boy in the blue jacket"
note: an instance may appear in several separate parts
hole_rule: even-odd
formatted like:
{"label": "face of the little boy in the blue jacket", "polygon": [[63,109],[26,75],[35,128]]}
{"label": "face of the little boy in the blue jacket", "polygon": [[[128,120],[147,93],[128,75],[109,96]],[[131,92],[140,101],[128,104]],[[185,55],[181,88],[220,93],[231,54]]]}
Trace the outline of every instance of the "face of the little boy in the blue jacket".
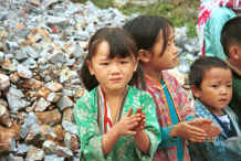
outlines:
{"label": "face of the little boy in the blue jacket", "polygon": [[207,69],[200,88],[195,88],[193,95],[210,109],[220,111],[232,98],[232,73],[229,68],[213,67]]}

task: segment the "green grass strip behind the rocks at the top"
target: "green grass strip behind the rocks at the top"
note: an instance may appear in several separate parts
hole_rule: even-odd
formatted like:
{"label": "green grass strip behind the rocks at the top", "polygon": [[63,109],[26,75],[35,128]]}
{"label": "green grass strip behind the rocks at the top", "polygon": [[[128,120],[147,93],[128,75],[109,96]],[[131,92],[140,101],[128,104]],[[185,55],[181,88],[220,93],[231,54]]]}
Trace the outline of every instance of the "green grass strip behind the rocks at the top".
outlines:
{"label": "green grass strip behind the rocks at the top", "polygon": [[[86,0],[72,0],[75,2],[85,2]],[[180,4],[174,4],[174,0],[167,2],[158,2],[147,7],[127,3],[123,7],[116,7],[112,0],[92,0],[99,8],[116,7],[124,14],[140,13],[149,15],[161,15],[170,20],[175,26],[187,26],[188,36],[197,36],[197,9],[199,0],[185,0]]]}

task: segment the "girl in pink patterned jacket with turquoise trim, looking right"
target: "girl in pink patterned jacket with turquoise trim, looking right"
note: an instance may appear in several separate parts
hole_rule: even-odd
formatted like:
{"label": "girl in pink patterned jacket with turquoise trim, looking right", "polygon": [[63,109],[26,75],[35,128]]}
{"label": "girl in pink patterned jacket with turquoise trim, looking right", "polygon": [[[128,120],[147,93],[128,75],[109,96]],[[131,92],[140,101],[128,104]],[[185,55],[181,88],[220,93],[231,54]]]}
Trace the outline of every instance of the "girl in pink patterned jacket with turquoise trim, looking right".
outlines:
{"label": "girl in pink patterned jacket with turquoise trim, looking right", "polygon": [[207,132],[200,125],[208,119],[195,119],[187,92],[166,69],[176,67],[178,50],[171,22],[155,15],[139,15],[124,25],[138,47],[143,76],[137,87],[149,92],[156,104],[161,142],[154,157],[157,161],[189,161],[187,140],[202,142]]}

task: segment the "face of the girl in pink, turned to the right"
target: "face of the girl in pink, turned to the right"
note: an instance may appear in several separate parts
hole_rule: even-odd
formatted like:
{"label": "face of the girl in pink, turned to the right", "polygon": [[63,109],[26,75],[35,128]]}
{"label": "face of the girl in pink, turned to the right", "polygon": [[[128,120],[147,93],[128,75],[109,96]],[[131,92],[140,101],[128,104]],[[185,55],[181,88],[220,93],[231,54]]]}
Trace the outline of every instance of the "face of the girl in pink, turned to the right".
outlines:
{"label": "face of the girl in pink, turned to the right", "polygon": [[[164,47],[164,41],[167,41],[167,46],[164,53],[160,55]],[[169,69],[179,65],[177,57],[178,49],[175,45],[175,31],[172,28],[170,29],[168,40],[164,40],[163,32],[159,32],[157,42],[151,49],[151,53],[153,55],[149,65],[151,65],[155,71]]]}

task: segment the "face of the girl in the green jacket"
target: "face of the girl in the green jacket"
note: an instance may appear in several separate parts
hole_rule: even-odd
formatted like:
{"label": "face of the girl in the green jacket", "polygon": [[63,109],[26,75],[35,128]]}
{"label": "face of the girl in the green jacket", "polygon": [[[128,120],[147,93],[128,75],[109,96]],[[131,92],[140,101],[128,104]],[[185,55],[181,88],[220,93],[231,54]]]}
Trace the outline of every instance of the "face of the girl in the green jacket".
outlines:
{"label": "face of the girl in the green jacket", "polygon": [[105,92],[125,89],[137,68],[138,61],[134,56],[109,58],[109,45],[103,41],[87,66]]}

